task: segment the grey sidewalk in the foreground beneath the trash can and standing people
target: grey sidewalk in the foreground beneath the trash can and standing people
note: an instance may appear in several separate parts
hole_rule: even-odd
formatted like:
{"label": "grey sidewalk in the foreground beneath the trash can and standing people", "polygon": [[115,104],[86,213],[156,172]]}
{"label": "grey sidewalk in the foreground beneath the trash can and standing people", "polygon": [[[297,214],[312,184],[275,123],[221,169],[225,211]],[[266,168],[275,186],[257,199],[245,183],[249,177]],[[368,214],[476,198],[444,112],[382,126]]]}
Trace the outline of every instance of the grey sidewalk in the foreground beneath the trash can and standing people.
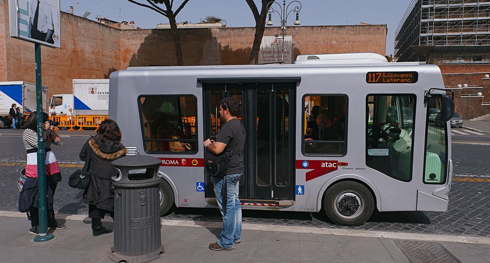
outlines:
{"label": "grey sidewalk in the foreground beneath the trash can and standing people", "polygon": [[[112,263],[110,260],[113,234],[93,237],[90,219],[83,215],[58,215],[67,218],[66,229],[55,230],[54,239],[36,243],[24,214],[0,211],[0,245],[2,263]],[[112,222],[104,226],[113,228]],[[221,223],[163,220],[162,244],[165,254],[155,263],[408,263],[394,240],[418,239],[438,242],[464,263],[489,263],[489,237],[458,237],[441,235],[403,234],[284,227],[243,224],[243,241],[232,251],[212,251],[209,243],[215,242],[221,232]],[[454,242],[457,241],[457,242]],[[430,249],[429,249],[430,250]],[[443,255],[434,251],[413,249],[428,258],[421,262],[441,260]],[[441,251],[441,250],[440,250]],[[420,253],[425,252],[425,253]],[[450,262],[450,261],[439,261]],[[456,261],[454,261],[456,262]]]}

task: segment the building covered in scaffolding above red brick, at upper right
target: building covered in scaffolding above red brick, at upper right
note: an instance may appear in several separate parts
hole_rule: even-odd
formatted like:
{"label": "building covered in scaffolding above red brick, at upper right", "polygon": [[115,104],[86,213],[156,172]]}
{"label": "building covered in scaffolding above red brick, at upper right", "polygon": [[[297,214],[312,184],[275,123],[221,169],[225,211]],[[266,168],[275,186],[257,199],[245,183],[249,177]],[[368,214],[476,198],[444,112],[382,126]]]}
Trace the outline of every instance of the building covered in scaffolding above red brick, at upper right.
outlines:
{"label": "building covered in scaffolding above red brick, at upper right", "polygon": [[413,0],[394,44],[397,62],[439,66],[464,119],[490,114],[490,0]]}

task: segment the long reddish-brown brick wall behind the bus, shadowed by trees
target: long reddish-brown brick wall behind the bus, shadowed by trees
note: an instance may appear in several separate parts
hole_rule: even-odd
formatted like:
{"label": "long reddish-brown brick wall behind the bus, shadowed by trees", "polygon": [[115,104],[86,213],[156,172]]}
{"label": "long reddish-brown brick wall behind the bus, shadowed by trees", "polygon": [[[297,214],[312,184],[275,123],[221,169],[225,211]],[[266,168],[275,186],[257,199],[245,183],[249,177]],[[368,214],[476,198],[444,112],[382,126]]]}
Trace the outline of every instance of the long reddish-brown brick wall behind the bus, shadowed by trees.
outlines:
{"label": "long reddish-brown brick wall behind the bus, shadowed by trees", "polygon": [[[0,81],[35,82],[34,44],[10,37],[8,6],[0,0]],[[185,65],[246,64],[253,27],[179,29]],[[274,35],[268,27],[264,35]],[[308,53],[372,52],[384,55],[386,25],[289,27],[293,58]],[[170,30],[119,30],[61,13],[61,49],[42,47],[48,95],[72,93],[72,79],[104,79],[128,66],[175,65]]]}

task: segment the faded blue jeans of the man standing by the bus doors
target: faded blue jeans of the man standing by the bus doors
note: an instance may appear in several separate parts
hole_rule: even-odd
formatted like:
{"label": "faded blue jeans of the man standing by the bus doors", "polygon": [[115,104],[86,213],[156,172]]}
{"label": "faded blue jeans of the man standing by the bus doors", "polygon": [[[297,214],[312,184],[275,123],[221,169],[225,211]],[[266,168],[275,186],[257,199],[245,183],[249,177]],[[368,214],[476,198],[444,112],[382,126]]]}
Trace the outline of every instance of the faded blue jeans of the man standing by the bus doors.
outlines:
{"label": "faded blue jeans of the man standing by the bus doors", "polygon": [[[238,183],[243,174],[231,174],[223,178],[213,178],[216,200],[218,208],[223,216],[223,230],[221,231],[218,244],[223,248],[235,246],[233,241],[242,241],[242,206],[238,199]],[[223,192],[224,179],[226,178],[227,202],[223,213]]]}

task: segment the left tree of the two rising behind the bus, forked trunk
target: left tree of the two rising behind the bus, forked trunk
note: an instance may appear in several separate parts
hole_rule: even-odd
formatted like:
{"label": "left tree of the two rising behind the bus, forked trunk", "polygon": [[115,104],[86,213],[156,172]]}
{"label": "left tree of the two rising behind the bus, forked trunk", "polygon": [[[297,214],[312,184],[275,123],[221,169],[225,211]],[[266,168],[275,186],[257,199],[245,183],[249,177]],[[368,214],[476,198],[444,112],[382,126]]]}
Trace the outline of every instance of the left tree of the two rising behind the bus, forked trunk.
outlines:
{"label": "left tree of the two rising behind the bus, forked trunk", "polygon": [[[172,31],[172,38],[173,38],[173,44],[175,45],[175,57],[177,59],[177,65],[178,66],[183,66],[184,65],[184,59],[182,58],[182,49],[180,48],[180,37],[179,37],[179,32],[177,31],[177,23],[175,18],[177,17],[178,13],[184,6],[186,5],[189,0],[184,0],[180,4],[180,6],[175,10],[175,12],[172,11],[173,8],[173,0],[146,0],[148,4],[140,3],[137,0],[128,0],[129,2],[132,2],[134,4],[140,5],[147,7],[160,15],[166,17],[169,19],[170,22],[170,30]],[[165,9],[159,7],[157,4],[163,3],[165,5]]]}

